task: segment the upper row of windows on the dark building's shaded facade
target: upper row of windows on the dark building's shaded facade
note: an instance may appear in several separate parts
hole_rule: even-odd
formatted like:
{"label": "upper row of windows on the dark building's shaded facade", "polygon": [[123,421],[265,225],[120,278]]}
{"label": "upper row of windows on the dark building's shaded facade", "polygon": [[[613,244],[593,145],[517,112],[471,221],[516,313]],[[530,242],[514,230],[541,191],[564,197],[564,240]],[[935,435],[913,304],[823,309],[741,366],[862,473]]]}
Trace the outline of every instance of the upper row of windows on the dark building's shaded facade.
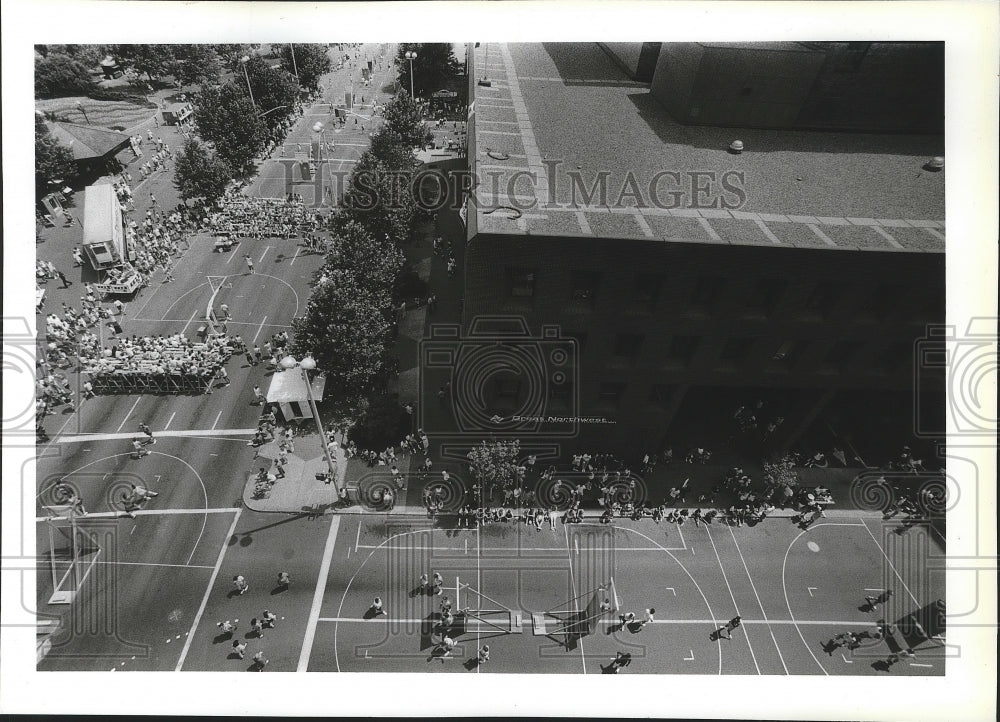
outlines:
{"label": "upper row of windows on the dark building's shaded facade", "polygon": [[[598,298],[601,280],[602,274],[599,271],[573,271],[570,274],[569,300],[593,308]],[[534,270],[508,269],[508,295],[519,300],[533,299],[536,281],[537,273]],[[636,274],[631,286],[630,306],[637,310],[652,312],[665,285],[665,274]],[[711,314],[719,305],[723,291],[731,285],[730,280],[721,276],[702,276],[695,284],[687,305],[692,310]],[[788,281],[784,278],[761,278],[742,299],[740,307],[745,315],[770,316],[784,298],[788,285]],[[837,303],[849,290],[846,284],[826,281],[818,283],[802,303],[801,315],[820,320],[830,318]],[[938,298],[935,294],[930,294],[924,298],[926,300],[918,302],[913,308],[914,318],[920,319],[936,311],[943,313],[943,296]],[[911,290],[905,284],[882,284],[870,294],[868,302],[859,310],[859,319],[884,319],[901,302],[912,300]]]}

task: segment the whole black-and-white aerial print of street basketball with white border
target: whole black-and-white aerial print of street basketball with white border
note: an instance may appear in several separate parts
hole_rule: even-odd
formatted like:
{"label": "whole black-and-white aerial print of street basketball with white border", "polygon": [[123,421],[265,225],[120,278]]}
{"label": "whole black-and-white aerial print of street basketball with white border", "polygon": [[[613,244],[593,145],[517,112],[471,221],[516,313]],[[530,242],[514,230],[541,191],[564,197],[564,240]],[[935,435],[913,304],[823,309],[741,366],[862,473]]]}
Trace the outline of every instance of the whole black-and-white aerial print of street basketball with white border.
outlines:
{"label": "whole black-and-white aerial print of street basketball with white border", "polygon": [[[963,640],[996,641],[976,521],[995,503],[996,174],[951,205],[954,29],[712,40],[639,5],[631,40],[476,41],[448,27],[457,3],[409,38],[370,9],[335,42],[309,6],[290,10],[302,42],[263,10],[196,41],[21,20],[19,673],[183,673],[168,697],[198,672],[268,696],[500,675],[515,698],[503,675],[611,697],[638,688],[584,675],[661,675],[704,705],[788,676],[870,695],[995,672]],[[972,157],[995,168],[990,107]],[[10,228],[29,207],[34,248]],[[949,709],[913,694],[897,714]],[[892,716],[828,702],[757,714]],[[992,718],[995,699],[963,704],[953,719]]]}

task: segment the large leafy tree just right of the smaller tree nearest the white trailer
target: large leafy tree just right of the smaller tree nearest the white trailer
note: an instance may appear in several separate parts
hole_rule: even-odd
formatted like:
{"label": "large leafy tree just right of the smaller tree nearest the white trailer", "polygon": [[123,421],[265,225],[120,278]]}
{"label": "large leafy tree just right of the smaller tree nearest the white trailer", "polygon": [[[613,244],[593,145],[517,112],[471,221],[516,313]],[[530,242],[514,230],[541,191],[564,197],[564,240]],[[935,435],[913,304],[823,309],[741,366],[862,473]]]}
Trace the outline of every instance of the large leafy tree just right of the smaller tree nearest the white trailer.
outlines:
{"label": "large leafy tree just right of the smaller tree nearest the white trailer", "polygon": [[205,86],[195,96],[194,107],[198,134],[235,172],[247,173],[264,149],[267,129],[257,117],[246,88],[233,82]]}

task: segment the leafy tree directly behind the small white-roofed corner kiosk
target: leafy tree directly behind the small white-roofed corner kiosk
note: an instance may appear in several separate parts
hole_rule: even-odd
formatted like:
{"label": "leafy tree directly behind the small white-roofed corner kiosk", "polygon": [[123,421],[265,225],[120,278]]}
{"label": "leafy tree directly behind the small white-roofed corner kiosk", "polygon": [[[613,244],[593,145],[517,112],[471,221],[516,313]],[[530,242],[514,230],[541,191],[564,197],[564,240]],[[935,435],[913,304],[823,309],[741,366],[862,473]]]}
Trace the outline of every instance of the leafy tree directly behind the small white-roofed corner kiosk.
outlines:
{"label": "leafy tree directly behind the small white-roofed corner kiosk", "polygon": [[382,371],[389,333],[383,310],[390,304],[387,291],[359,283],[351,271],[332,271],[292,321],[291,352],[316,359],[332,396],[356,400]]}

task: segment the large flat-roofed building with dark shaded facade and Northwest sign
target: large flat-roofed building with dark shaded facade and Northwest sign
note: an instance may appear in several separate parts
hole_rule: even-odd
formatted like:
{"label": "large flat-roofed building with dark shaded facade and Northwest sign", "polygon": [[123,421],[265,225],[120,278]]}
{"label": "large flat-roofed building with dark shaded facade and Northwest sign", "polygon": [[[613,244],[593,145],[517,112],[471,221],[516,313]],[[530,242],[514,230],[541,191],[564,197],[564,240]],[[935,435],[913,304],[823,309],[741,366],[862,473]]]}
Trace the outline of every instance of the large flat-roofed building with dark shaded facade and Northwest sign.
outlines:
{"label": "large flat-roofed building with dark shaded facade and Northwest sign", "polygon": [[944,318],[944,174],[923,169],[943,136],[683,126],[596,44],[469,65],[464,331],[502,341],[484,319],[505,315],[540,339],[479,372],[468,403],[500,430],[540,415],[541,437],[637,452],[759,397],[791,444],[841,407],[912,434],[917,381],[943,403],[914,376]]}

